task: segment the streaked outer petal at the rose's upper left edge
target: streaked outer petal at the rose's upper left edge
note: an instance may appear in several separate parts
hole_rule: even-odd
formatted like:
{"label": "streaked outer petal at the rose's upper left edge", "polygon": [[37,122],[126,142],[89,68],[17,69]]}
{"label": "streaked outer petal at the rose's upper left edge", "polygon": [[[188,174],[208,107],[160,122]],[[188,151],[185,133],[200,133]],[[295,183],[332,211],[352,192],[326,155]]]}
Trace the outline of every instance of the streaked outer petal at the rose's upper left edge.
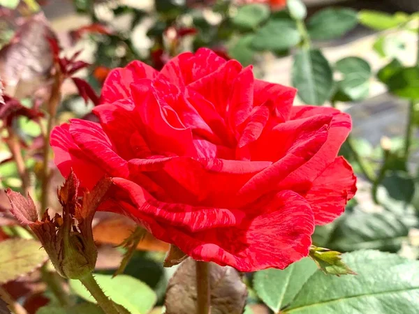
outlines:
{"label": "streaked outer petal at the rose's upper left edge", "polygon": [[132,61],[125,68],[112,70],[103,83],[101,103],[113,103],[130,96],[129,86],[143,78],[154,79],[159,72],[141,61]]}

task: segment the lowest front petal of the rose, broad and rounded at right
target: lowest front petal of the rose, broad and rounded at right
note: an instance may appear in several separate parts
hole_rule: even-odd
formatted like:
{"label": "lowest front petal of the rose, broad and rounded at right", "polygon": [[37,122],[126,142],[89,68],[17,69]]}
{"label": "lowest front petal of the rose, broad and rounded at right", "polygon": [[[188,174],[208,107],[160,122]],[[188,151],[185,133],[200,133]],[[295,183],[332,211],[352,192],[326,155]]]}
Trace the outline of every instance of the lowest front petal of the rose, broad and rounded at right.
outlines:
{"label": "lowest front petal of the rose, broad and rounded at right", "polygon": [[309,203],[291,190],[264,197],[243,209],[253,216],[244,218],[240,225],[200,232],[159,223],[129,204],[124,210],[154,237],[175,244],[194,259],[229,265],[239,271],[286,268],[308,255],[314,232]]}

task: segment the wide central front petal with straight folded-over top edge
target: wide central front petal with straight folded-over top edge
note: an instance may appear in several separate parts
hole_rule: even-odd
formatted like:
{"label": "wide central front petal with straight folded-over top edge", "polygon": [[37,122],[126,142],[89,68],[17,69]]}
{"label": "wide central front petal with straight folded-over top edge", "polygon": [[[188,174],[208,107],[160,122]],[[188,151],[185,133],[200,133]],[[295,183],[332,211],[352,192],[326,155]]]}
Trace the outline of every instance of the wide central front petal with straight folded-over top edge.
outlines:
{"label": "wide central front petal with straight folded-over top edge", "polygon": [[173,200],[208,206],[233,206],[237,202],[237,191],[270,165],[270,161],[187,157],[129,161],[131,174],[147,172],[147,176],[166,190]]}

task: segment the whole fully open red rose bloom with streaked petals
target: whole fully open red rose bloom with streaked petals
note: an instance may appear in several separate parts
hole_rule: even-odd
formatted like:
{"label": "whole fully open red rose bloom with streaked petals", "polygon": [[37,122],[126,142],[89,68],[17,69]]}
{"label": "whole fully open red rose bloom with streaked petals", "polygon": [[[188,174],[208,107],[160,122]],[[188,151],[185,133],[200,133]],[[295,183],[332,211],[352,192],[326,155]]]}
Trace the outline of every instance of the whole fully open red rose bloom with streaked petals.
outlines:
{"label": "whole fully open red rose bloom with streaked petals", "polygon": [[294,96],[207,49],[160,72],[133,61],[108,75],[94,108],[100,124],[73,119],[53,130],[55,162],[86,188],[112,177],[101,210],[196,260],[284,269],[355,193],[351,166],[337,157],[351,118],[293,107]]}

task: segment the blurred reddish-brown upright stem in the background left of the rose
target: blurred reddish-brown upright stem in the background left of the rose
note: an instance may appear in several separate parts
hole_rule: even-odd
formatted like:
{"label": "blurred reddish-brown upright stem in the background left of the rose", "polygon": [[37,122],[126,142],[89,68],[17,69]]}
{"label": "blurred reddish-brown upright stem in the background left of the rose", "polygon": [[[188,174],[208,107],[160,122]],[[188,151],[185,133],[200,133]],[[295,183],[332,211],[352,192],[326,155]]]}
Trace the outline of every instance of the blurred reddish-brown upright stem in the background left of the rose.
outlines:
{"label": "blurred reddish-brown upright stem in the background left of the rose", "polygon": [[42,193],[41,193],[41,215],[48,206],[48,190],[50,188],[50,171],[48,164],[50,163],[50,134],[55,123],[55,115],[57,113],[57,107],[61,99],[61,84],[63,77],[59,66],[55,66],[54,84],[52,85],[50,99],[48,100],[48,121],[47,130],[44,137],[43,146],[43,168],[41,173],[42,180]]}

